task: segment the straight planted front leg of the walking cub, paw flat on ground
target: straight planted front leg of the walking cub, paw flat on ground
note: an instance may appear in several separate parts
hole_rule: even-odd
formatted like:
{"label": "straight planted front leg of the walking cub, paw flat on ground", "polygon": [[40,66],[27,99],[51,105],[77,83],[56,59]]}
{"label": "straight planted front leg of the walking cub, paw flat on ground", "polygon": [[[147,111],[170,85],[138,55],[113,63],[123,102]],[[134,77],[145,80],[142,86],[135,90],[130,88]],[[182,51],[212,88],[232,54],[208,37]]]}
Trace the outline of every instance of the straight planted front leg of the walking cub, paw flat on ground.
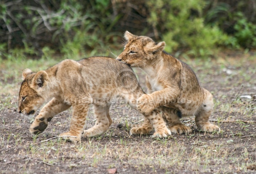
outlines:
{"label": "straight planted front leg of the walking cub, paw flat on ground", "polygon": [[[63,139],[71,141],[81,141],[81,135],[84,131],[86,117],[88,115],[90,103],[79,103],[72,105],[73,113],[70,120],[69,132],[61,133],[60,136],[74,136],[63,137]],[[76,138],[75,138],[76,137]]]}

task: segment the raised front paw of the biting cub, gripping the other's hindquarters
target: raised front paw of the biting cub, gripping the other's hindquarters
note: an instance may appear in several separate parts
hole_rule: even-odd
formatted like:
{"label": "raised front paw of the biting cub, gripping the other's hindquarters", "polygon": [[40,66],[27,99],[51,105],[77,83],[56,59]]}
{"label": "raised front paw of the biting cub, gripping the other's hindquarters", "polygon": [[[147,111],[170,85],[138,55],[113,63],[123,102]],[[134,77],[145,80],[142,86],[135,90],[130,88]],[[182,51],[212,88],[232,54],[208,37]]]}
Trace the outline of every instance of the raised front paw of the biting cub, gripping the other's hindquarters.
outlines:
{"label": "raised front paw of the biting cub, gripping the other's hindquarters", "polygon": [[142,114],[150,114],[155,109],[154,100],[147,94],[143,94],[138,98],[137,110]]}

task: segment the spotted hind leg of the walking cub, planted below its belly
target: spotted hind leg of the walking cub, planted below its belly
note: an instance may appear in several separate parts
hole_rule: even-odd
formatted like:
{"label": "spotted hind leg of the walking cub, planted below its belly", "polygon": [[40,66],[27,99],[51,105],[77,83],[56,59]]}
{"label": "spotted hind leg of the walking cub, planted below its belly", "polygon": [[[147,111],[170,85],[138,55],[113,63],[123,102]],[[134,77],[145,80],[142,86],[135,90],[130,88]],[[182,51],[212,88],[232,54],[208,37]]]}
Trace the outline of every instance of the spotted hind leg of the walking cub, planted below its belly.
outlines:
{"label": "spotted hind leg of the walking cub, planted below its belly", "polygon": [[107,129],[112,124],[112,120],[109,115],[109,108],[110,104],[93,105],[94,118],[96,119],[96,123],[92,128],[84,130],[82,136],[93,137],[101,135],[102,133],[105,133],[107,131]]}

